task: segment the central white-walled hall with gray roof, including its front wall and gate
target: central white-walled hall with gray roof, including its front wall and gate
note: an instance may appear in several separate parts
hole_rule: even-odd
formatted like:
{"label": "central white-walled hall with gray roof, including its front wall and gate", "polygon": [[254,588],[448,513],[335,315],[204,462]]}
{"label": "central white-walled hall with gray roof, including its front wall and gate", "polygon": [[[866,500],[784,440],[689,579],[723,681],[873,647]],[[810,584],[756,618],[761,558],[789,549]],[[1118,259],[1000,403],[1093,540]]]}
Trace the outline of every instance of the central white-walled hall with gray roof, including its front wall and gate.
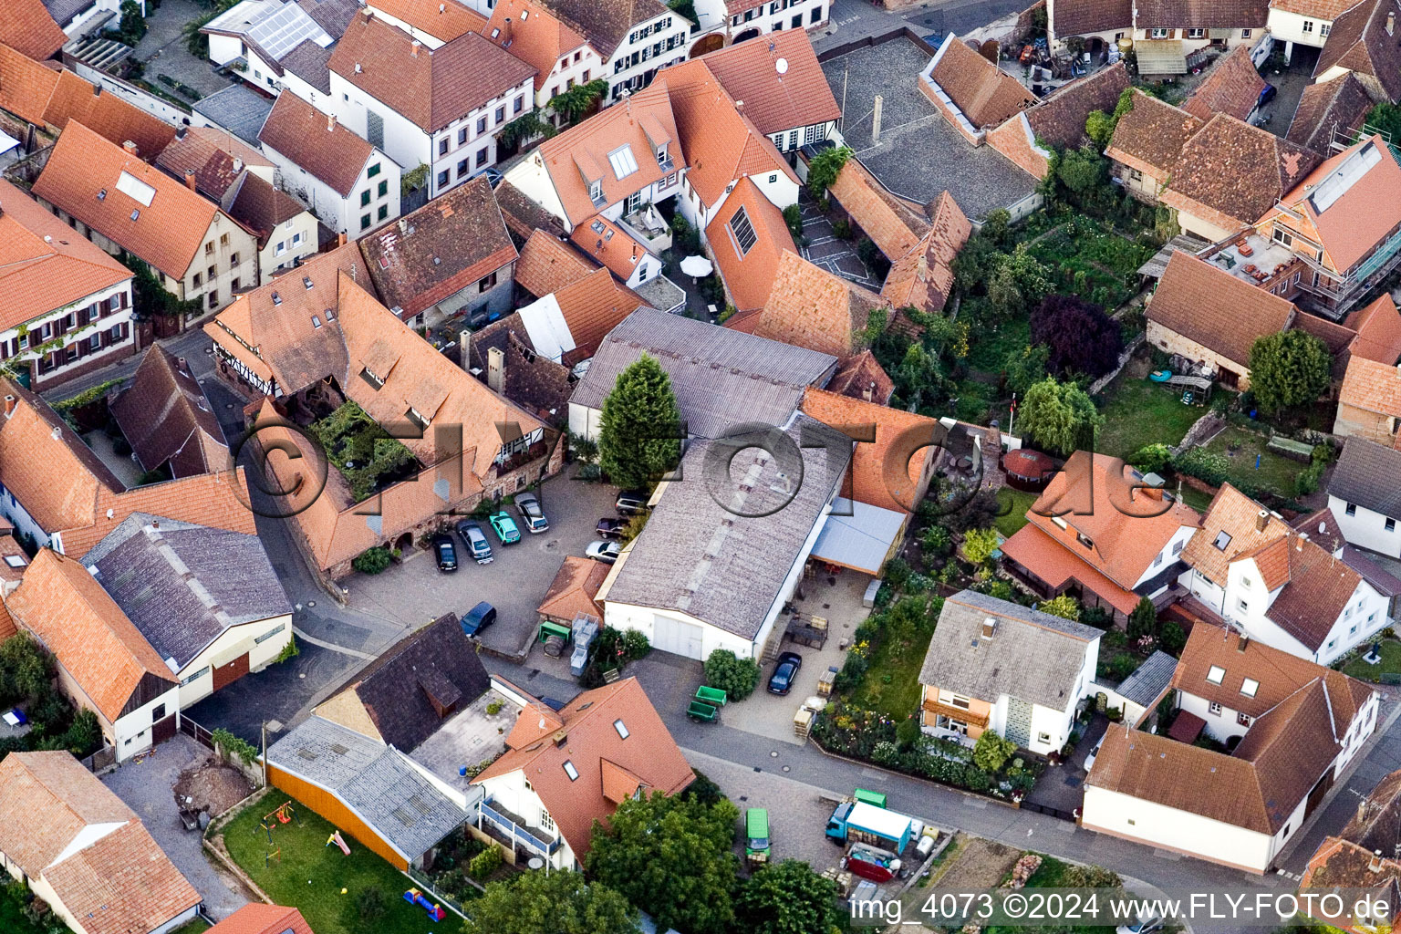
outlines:
{"label": "central white-walled hall with gray roof, including its front wall and gate", "polygon": [[[850,438],[801,413],[783,434],[786,441],[765,440],[775,454],[743,441],[691,445],[681,462],[685,479],[665,485],[600,590],[609,626],[650,630],[654,647],[691,658],[722,647],[741,657],[762,650],[852,454]],[[723,463],[731,454],[729,475],[722,468],[715,476],[708,458]],[[677,627],[684,639],[668,636]]]}

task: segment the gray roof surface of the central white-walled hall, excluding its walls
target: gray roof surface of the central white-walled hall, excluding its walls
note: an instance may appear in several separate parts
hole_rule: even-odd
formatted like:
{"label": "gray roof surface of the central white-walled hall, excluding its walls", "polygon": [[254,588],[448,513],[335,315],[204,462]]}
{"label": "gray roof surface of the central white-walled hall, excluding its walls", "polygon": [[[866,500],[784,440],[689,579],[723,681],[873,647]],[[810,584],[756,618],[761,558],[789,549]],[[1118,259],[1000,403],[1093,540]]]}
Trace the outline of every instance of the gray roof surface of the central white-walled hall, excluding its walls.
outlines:
{"label": "gray roof surface of the central white-walled hall, excluding its walls", "polygon": [[[801,472],[785,471],[796,494],[782,492],[783,468],[758,448],[736,456],[737,482],[719,478],[712,494],[705,458],[720,442],[692,444],[681,461],[685,479],[667,485],[605,602],[679,611],[752,640],[850,461],[849,438],[815,419],[799,413],[785,431],[813,445],[799,448]],[[771,514],[755,515],[762,513]]]}

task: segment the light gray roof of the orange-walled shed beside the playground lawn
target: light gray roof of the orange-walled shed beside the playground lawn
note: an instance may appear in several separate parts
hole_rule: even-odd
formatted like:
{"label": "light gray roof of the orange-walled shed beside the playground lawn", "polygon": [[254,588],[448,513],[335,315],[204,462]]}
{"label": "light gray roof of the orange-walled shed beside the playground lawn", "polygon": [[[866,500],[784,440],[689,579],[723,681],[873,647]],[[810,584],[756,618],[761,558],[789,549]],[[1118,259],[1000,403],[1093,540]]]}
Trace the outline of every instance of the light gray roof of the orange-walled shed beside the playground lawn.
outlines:
{"label": "light gray roof of the orange-walled shed beside the playground lawn", "polygon": [[275,742],[268,762],[328,788],[409,860],[467,819],[402,752],[321,717]]}

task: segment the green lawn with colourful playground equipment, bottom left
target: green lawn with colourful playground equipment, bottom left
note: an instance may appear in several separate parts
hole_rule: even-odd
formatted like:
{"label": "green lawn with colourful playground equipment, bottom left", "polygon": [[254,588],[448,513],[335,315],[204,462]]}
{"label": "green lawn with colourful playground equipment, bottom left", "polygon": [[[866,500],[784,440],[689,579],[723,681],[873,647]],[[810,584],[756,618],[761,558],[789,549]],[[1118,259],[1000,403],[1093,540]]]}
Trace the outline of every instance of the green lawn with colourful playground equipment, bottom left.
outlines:
{"label": "green lawn with colourful playground equipment, bottom left", "polygon": [[[434,923],[422,907],[403,900],[403,892],[413,882],[396,868],[377,857],[359,840],[343,833],[350,856],[336,846],[326,846],[326,837],[336,829],[300,801],[293,801],[297,821],[279,823],[268,835],[259,826],[262,815],[283,798],[279,793],[263,795],[223,828],[224,846],[244,872],[277,905],[301,909],[317,934],[457,934],[462,919],[453,912]],[[300,823],[298,823],[300,821]],[[282,849],[282,861],[273,858],[263,865],[269,849]],[[345,888],[347,892],[340,893]],[[375,919],[360,916],[356,899],[377,888],[384,896],[384,914]]]}

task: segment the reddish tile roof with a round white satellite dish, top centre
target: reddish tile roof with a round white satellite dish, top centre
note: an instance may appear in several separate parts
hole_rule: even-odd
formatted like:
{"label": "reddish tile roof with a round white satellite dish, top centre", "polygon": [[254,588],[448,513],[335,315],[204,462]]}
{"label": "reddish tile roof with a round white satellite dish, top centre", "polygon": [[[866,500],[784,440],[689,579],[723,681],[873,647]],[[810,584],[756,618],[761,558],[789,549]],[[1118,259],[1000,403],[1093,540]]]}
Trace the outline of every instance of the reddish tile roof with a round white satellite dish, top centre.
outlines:
{"label": "reddish tile roof with a round white satellite dish, top centre", "polygon": [[769,32],[759,42],[737,42],[700,60],[731,98],[744,102],[744,115],[766,136],[842,116],[803,29]]}

